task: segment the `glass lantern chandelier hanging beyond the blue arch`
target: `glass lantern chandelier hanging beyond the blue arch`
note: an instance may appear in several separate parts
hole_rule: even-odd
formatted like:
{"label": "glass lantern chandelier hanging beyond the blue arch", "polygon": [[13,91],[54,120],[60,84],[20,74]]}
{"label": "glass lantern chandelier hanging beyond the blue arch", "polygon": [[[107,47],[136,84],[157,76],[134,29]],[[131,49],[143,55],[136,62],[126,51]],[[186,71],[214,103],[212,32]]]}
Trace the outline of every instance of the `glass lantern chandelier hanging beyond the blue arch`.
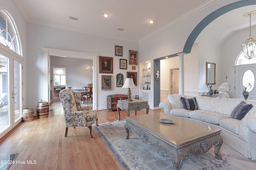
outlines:
{"label": "glass lantern chandelier hanging beyond the blue arch", "polygon": [[244,18],[250,17],[250,35],[244,44],[241,45],[244,52],[244,57],[249,60],[251,60],[253,57],[256,57],[256,41],[251,37],[251,18],[255,14],[256,10],[242,15]]}

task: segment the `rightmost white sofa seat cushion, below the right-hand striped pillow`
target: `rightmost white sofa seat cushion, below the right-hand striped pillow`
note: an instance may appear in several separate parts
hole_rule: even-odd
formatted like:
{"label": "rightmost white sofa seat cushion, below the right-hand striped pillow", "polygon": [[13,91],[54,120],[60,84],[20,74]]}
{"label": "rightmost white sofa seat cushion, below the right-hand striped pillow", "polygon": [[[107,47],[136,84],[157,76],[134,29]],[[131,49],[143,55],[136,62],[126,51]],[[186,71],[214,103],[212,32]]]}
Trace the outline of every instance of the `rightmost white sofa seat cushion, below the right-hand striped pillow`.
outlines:
{"label": "rightmost white sofa seat cushion, below the right-hand striped pillow", "polygon": [[219,121],[220,127],[223,127],[224,129],[227,129],[228,131],[231,131],[238,135],[238,129],[240,125],[240,120],[237,119],[222,119]]}

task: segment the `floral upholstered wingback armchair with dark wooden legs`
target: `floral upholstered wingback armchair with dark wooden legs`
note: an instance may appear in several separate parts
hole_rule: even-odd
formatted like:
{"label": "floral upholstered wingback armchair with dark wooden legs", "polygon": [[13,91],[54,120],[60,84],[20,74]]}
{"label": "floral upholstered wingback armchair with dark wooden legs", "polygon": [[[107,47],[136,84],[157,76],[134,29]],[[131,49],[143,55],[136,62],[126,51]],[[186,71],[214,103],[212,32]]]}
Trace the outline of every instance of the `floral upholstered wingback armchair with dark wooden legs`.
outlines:
{"label": "floral upholstered wingback armchair with dark wooden legs", "polygon": [[59,92],[59,96],[66,120],[65,137],[68,134],[68,127],[85,126],[90,129],[92,137],[92,124],[96,121],[98,126],[97,111],[91,110],[90,106],[81,106],[81,92],[63,89]]}

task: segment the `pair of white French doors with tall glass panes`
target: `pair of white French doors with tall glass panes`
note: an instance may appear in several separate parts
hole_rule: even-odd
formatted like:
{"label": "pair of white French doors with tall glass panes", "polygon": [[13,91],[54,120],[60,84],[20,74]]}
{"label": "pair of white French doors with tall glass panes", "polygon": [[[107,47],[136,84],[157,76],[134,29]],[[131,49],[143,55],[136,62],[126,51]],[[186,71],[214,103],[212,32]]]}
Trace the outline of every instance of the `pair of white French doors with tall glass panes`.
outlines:
{"label": "pair of white French doors with tall glass panes", "polygon": [[0,138],[22,119],[22,61],[0,50]]}

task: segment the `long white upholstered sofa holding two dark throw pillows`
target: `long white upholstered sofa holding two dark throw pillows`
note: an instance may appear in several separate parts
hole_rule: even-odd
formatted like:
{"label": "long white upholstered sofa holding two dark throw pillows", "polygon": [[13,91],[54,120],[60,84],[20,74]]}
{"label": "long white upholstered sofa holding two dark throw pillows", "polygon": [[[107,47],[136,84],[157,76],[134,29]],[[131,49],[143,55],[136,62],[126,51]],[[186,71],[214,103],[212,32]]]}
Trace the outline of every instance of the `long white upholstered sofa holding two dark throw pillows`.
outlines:
{"label": "long white upholstered sofa holding two dark throw pillows", "polygon": [[[196,97],[197,110],[183,109],[181,97]],[[247,100],[253,107],[242,120],[232,119],[231,113],[243,99],[210,98],[203,96],[187,96],[181,94],[168,95],[159,104],[164,113],[191,119],[222,129],[223,142],[240,152],[246,158],[256,160],[256,101]]]}

